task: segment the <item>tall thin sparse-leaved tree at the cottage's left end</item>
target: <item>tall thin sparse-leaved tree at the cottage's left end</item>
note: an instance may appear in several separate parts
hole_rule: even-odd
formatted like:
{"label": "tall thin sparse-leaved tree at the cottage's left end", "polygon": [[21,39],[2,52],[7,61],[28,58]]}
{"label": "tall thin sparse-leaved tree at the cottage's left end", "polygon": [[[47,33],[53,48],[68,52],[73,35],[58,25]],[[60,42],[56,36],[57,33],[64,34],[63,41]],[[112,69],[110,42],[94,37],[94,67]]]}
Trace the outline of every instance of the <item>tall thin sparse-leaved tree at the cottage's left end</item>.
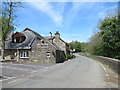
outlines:
{"label": "tall thin sparse-leaved tree at the cottage's left end", "polygon": [[2,52],[1,52],[1,59],[4,59],[4,48],[5,48],[5,39],[7,35],[13,31],[14,28],[14,18],[16,17],[15,11],[18,7],[21,6],[20,2],[11,2],[6,1],[2,2]]}

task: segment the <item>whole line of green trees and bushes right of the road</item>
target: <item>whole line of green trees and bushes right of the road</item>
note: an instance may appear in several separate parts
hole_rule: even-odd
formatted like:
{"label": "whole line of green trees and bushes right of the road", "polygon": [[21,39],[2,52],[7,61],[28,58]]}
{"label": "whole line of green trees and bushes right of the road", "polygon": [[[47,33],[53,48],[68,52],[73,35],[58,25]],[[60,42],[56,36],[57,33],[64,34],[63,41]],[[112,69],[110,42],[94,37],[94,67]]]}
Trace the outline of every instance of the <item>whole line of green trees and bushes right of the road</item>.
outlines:
{"label": "whole line of green trees and bushes right of the road", "polygon": [[70,49],[87,52],[92,55],[120,59],[120,15],[107,16],[101,20],[98,29],[88,43],[72,41]]}

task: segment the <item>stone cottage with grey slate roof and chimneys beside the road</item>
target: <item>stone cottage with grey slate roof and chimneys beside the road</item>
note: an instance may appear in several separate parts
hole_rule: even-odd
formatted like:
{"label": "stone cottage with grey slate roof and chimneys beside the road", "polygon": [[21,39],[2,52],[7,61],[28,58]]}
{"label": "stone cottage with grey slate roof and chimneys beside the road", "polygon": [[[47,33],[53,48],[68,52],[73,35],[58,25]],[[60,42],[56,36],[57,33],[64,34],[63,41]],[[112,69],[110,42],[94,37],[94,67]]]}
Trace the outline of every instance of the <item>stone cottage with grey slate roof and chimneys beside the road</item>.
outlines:
{"label": "stone cottage with grey slate roof and chimneys beside the road", "polygon": [[17,61],[38,61],[40,63],[59,63],[65,61],[68,54],[68,44],[55,36],[43,37],[26,28],[16,32],[5,41],[5,59]]}

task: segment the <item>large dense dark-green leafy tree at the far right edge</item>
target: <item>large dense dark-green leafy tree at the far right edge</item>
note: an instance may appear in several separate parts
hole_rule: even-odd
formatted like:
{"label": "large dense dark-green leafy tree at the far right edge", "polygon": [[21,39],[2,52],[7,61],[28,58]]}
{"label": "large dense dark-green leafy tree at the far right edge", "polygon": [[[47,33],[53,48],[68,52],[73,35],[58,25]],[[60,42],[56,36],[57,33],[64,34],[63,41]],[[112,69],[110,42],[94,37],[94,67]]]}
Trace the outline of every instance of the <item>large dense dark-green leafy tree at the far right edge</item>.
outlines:
{"label": "large dense dark-green leafy tree at the far right edge", "polygon": [[100,22],[100,36],[103,40],[105,56],[120,58],[120,25],[117,15],[106,17]]}

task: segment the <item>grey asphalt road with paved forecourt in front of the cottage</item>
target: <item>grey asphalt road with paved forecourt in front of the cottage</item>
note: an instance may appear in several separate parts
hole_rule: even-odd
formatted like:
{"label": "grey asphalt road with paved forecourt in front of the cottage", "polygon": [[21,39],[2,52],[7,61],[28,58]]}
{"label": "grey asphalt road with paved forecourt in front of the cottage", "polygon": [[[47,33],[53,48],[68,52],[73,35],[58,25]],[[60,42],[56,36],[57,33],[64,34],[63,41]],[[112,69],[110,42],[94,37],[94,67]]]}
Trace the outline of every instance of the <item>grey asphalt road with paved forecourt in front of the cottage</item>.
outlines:
{"label": "grey asphalt road with paved forecourt in front of the cottage", "polygon": [[78,54],[55,65],[2,65],[3,88],[118,88],[117,74]]}

